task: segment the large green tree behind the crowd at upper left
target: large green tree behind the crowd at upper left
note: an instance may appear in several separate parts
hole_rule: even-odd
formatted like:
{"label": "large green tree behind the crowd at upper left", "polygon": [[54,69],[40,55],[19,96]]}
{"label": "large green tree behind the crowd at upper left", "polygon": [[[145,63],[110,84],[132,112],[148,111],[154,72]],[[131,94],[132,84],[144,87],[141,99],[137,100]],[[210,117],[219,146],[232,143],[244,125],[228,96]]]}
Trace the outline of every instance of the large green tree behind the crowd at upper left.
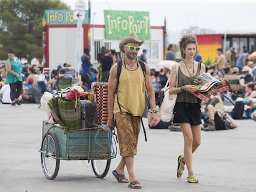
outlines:
{"label": "large green tree behind the crowd at upper left", "polygon": [[70,9],[60,0],[0,0],[0,59],[9,48],[31,61],[43,56],[42,19],[45,10]]}

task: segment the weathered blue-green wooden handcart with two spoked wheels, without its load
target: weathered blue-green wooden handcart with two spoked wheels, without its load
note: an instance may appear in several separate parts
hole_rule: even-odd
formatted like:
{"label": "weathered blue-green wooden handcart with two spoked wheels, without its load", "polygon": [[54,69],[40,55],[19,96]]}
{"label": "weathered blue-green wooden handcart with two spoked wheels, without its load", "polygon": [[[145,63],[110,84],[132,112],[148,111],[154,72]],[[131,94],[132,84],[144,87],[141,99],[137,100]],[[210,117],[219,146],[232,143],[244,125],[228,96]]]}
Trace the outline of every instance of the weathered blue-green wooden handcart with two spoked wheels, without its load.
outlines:
{"label": "weathered blue-green wooden handcart with two spoked wheels, without its load", "polygon": [[[116,143],[109,127],[96,126],[66,130],[43,121],[41,166],[45,177],[53,180],[59,172],[60,160],[88,160],[96,177],[104,178],[111,158],[116,157]],[[113,142],[114,141],[114,142]]]}

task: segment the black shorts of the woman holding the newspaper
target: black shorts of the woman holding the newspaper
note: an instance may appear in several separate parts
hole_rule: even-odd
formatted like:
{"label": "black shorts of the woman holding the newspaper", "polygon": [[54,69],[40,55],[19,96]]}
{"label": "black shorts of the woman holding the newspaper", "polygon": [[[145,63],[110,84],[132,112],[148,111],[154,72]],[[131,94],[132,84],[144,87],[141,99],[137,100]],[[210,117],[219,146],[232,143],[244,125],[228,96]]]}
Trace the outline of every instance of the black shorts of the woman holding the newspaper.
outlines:
{"label": "black shorts of the woman holding the newspaper", "polygon": [[173,123],[190,123],[190,125],[202,124],[200,104],[176,102],[174,106]]}

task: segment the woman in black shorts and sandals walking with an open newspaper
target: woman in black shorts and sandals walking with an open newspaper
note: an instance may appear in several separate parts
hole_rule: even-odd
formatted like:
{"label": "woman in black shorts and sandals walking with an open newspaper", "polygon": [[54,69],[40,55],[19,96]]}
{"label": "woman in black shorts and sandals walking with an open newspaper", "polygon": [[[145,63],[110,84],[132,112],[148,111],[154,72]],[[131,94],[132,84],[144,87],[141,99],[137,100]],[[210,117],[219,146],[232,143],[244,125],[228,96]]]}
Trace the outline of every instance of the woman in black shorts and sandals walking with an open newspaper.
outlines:
{"label": "woman in black shorts and sandals walking with an open newspaper", "polygon": [[198,183],[198,179],[193,172],[192,154],[200,145],[200,124],[202,122],[200,100],[192,94],[197,91],[197,88],[191,85],[190,82],[200,73],[205,72],[205,65],[194,61],[197,56],[196,36],[182,36],[179,49],[182,61],[178,64],[178,74],[176,74],[176,65],[173,65],[169,77],[169,94],[177,94],[173,123],[179,123],[184,136],[184,155],[178,157],[177,178],[182,176],[186,164],[188,170],[187,182]]}

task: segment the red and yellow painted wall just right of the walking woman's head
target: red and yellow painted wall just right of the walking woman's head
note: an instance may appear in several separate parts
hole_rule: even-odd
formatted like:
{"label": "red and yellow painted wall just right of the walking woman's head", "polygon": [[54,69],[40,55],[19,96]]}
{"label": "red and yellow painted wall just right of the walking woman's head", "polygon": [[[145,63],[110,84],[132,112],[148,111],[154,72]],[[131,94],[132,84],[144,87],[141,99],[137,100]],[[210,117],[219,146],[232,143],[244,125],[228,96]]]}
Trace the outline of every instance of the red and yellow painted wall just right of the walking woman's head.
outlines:
{"label": "red and yellow painted wall just right of the walking woman's head", "polygon": [[216,49],[222,48],[222,34],[197,35],[198,54],[202,56],[204,64],[216,61]]}

